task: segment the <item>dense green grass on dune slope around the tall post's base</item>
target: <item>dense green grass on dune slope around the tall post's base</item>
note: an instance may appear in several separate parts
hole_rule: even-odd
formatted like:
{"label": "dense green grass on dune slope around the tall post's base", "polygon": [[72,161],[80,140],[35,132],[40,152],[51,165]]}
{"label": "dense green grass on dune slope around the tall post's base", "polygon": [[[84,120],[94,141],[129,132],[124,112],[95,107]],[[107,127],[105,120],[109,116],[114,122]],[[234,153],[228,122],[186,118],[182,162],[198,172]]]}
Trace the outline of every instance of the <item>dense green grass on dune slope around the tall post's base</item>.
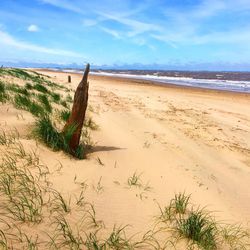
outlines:
{"label": "dense green grass on dune slope around the tall post's base", "polygon": [[[6,85],[0,82],[0,102],[9,100],[16,108],[28,111],[37,117],[33,133],[36,138],[39,138],[53,150],[63,150],[69,153],[69,140],[74,133],[74,126],[69,128],[68,131],[60,133],[50,118],[58,112],[53,109],[53,102],[60,107],[59,117],[62,121],[66,122],[70,116],[69,105],[72,103],[72,97],[68,94],[66,98],[62,98],[55,91],[55,89],[64,89],[64,87],[51,82],[41,74],[26,70],[1,68],[0,76],[1,74],[10,75],[27,82],[24,87],[12,83]],[[49,116],[50,114],[51,116]],[[86,120],[84,127],[96,129],[97,125],[89,118]],[[83,131],[82,139],[83,142],[74,152],[75,157],[79,159],[86,157],[87,144],[90,144],[89,133],[86,129]]]}

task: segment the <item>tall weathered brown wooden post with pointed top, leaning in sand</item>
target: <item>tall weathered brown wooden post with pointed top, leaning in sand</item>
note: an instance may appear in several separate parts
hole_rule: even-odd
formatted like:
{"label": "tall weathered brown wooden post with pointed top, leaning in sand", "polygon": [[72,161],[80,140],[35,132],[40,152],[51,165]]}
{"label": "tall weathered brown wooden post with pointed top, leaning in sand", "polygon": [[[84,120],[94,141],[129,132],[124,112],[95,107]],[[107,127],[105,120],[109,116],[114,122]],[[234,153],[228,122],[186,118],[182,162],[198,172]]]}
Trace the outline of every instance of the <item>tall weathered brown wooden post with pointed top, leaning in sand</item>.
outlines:
{"label": "tall weathered brown wooden post with pointed top, leaning in sand", "polygon": [[89,74],[90,65],[87,64],[83,78],[79,83],[73,101],[73,107],[68,121],[66,122],[63,132],[67,133],[69,129],[74,128],[72,137],[69,140],[69,150],[72,155],[75,155],[77,148],[80,143],[80,137],[83,127],[83,122],[85,119],[85,113],[88,105],[88,74]]}

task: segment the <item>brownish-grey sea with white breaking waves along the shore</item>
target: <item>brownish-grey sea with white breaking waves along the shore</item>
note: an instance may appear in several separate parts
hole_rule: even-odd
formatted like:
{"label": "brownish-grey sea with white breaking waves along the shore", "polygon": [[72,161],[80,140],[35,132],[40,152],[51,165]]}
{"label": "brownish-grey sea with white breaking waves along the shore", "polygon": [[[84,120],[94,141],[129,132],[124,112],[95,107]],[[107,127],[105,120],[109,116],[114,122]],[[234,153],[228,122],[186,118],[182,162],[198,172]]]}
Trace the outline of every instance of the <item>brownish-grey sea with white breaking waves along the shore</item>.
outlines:
{"label": "brownish-grey sea with white breaking waves along the shore", "polygon": [[[64,69],[62,71],[83,73],[83,71],[74,69]],[[147,80],[160,84],[250,93],[250,72],[92,70],[90,74]]]}

